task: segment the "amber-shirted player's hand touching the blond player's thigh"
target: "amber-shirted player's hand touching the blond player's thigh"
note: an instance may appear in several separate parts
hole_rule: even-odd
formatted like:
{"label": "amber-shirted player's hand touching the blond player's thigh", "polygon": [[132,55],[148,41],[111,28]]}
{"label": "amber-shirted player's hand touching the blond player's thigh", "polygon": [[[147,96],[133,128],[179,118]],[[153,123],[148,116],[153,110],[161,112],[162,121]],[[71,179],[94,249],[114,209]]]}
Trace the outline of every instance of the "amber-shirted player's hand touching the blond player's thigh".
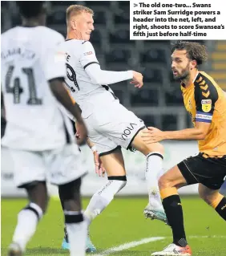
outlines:
{"label": "amber-shirted player's hand touching the blond player's thigh", "polygon": [[146,144],[156,143],[165,140],[164,132],[155,127],[148,127],[147,129],[145,129],[142,132],[141,137]]}

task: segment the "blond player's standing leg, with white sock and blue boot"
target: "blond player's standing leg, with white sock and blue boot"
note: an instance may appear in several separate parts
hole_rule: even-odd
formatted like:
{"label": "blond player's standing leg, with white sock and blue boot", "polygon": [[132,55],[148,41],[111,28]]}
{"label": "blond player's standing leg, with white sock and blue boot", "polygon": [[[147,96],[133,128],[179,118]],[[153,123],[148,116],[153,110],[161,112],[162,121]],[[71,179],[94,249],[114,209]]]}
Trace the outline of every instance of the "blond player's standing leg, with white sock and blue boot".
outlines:
{"label": "blond player's standing leg, with white sock and blue boot", "polygon": [[[86,120],[87,128],[89,130],[89,137],[91,141],[95,144],[99,156],[105,161],[112,155],[110,162],[111,168],[109,168],[107,175],[109,176],[108,181],[103,187],[101,187],[94,195],[91,197],[91,201],[87,205],[87,209],[84,212],[84,217],[87,221],[88,229],[91,221],[95,219],[109,205],[112,199],[120,189],[127,183],[123,156],[120,147],[117,146],[112,140],[103,136],[101,133],[96,132],[92,127],[92,124],[96,123],[96,120],[89,116]],[[106,161],[105,161],[106,162]],[[120,164],[119,164],[120,163]],[[107,165],[105,163],[104,165]],[[112,168],[115,166],[114,168]],[[106,168],[106,167],[105,167]],[[89,234],[89,232],[88,232]],[[63,240],[63,249],[68,249],[70,247],[67,242],[67,231],[65,230],[65,238]],[[87,237],[87,252],[95,252],[95,246],[91,242],[91,238]]]}

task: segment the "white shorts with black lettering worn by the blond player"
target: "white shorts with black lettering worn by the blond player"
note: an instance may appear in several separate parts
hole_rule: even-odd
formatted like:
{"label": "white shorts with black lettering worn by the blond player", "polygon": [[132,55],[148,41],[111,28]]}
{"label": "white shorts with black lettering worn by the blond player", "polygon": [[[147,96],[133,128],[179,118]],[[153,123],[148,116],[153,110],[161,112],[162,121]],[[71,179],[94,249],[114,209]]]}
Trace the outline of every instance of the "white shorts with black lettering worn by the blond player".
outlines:
{"label": "white shorts with black lettering worn by the blond player", "polygon": [[84,118],[88,134],[100,156],[116,148],[131,148],[131,142],[145,128],[143,120],[118,102],[111,103],[103,111],[94,112]]}

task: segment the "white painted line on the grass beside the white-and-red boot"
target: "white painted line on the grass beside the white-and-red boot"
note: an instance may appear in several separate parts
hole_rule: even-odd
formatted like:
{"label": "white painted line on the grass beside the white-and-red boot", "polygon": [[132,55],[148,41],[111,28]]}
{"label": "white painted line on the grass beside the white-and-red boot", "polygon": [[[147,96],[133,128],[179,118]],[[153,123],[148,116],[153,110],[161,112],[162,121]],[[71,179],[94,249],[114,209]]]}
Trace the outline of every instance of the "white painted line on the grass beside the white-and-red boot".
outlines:
{"label": "white painted line on the grass beside the white-and-red boot", "polygon": [[143,238],[139,241],[127,242],[127,243],[124,243],[123,245],[120,245],[120,246],[117,246],[117,247],[111,247],[107,250],[104,250],[101,254],[93,254],[93,256],[108,255],[108,254],[115,253],[116,251],[127,250],[127,249],[130,249],[132,247],[136,247],[136,246],[146,244],[148,242],[155,242],[155,241],[159,241],[159,240],[163,240],[163,239],[164,239],[163,237]]}

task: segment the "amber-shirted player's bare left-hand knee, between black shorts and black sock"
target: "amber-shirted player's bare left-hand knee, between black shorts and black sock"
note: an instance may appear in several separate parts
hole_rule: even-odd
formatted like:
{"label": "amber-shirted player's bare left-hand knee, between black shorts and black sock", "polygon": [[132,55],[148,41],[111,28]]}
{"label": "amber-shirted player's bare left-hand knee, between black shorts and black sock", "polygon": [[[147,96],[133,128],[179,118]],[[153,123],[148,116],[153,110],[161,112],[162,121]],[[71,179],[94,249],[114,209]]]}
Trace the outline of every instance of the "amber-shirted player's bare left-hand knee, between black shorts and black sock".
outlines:
{"label": "amber-shirted player's bare left-hand knee, between black shorts and black sock", "polygon": [[178,166],[172,167],[159,178],[159,189],[176,187],[177,189],[187,185],[187,181],[180,172]]}

